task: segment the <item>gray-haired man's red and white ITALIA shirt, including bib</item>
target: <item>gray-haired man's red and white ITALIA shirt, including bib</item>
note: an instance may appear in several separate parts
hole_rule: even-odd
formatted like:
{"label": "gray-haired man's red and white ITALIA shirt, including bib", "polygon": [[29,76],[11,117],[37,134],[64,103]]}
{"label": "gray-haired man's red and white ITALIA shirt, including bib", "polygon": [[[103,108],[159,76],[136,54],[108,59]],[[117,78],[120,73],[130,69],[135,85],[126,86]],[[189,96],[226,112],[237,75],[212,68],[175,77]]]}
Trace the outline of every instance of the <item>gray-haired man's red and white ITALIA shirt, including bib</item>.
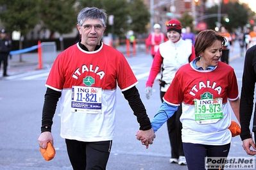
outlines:
{"label": "gray-haired man's red and white ITALIA shirt, including bib", "polygon": [[130,89],[137,79],[123,54],[104,43],[89,52],[73,45],[60,53],[46,81],[62,91],[61,137],[108,141],[114,137],[116,89]]}

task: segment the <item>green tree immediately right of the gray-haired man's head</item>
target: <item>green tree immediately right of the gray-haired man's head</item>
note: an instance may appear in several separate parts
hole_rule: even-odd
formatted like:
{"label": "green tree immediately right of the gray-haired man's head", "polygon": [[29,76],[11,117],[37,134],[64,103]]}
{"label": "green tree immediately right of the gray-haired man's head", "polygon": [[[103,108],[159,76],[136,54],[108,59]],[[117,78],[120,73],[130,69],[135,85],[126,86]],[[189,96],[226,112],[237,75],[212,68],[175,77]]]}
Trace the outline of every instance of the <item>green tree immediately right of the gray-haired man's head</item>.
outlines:
{"label": "green tree immediately right of the gray-haired man's head", "polygon": [[106,34],[112,33],[112,28],[114,28],[113,32],[116,36],[125,36],[128,30],[133,30],[138,34],[147,32],[146,25],[149,22],[150,14],[142,0],[133,0],[130,3],[126,0],[79,0],[78,2],[81,8],[96,6],[105,9],[108,16],[114,15],[114,26],[109,26],[107,23]]}

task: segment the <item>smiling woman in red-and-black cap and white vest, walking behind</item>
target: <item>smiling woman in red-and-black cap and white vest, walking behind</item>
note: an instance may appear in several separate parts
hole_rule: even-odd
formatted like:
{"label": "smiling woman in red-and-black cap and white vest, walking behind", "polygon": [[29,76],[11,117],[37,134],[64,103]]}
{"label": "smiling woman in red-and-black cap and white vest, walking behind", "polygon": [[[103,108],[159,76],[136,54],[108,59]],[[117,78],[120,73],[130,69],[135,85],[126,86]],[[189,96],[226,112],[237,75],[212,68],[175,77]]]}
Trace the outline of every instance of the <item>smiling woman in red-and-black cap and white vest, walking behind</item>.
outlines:
{"label": "smiling woman in red-and-black cap and white vest, walking behind", "polygon": [[[149,99],[155,78],[161,70],[161,79],[159,82],[160,98],[162,102],[164,94],[171,85],[178,68],[196,58],[192,43],[182,39],[182,26],[179,20],[169,20],[166,25],[166,29],[167,38],[169,40],[159,45],[159,49],[153,59],[145,89],[146,98]],[[180,123],[181,114],[182,107],[180,105],[178,111],[176,111],[175,114],[167,121],[169,140],[171,144],[171,158],[169,162],[185,165],[187,163],[185,161],[182,146],[182,123]]]}

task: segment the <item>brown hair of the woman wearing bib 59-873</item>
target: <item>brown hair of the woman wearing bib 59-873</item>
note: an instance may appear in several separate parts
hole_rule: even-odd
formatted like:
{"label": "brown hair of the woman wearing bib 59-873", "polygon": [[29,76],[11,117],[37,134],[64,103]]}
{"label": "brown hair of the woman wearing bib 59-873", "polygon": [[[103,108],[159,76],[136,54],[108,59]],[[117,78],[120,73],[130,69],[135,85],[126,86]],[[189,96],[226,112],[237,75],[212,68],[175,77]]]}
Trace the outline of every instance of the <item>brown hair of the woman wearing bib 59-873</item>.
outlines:
{"label": "brown hair of the woman wearing bib 59-873", "polygon": [[196,37],[196,42],[194,42],[196,58],[198,58],[200,53],[207,49],[207,47],[212,46],[216,40],[221,41],[223,46],[226,42],[226,38],[224,36],[219,35],[219,33],[216,33],[216,31],[213,31],[212,29],[201,31]]}

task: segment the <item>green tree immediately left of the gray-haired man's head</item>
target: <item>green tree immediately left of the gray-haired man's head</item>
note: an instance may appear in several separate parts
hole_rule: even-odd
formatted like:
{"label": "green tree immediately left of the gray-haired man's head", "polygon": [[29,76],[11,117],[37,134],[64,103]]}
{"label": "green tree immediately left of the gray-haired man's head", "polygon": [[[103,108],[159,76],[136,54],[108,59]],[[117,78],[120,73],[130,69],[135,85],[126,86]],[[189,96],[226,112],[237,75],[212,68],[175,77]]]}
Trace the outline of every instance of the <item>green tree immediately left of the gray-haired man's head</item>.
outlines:
{"label": "green tree immediately left of the gray-haired man's head", "polygon": [[40,0],[40,20],[43,28],[51,31],[51,36],[60,33],[60,50],[64,50],[63,34],[71,33],[76,27],[76,0]]}

